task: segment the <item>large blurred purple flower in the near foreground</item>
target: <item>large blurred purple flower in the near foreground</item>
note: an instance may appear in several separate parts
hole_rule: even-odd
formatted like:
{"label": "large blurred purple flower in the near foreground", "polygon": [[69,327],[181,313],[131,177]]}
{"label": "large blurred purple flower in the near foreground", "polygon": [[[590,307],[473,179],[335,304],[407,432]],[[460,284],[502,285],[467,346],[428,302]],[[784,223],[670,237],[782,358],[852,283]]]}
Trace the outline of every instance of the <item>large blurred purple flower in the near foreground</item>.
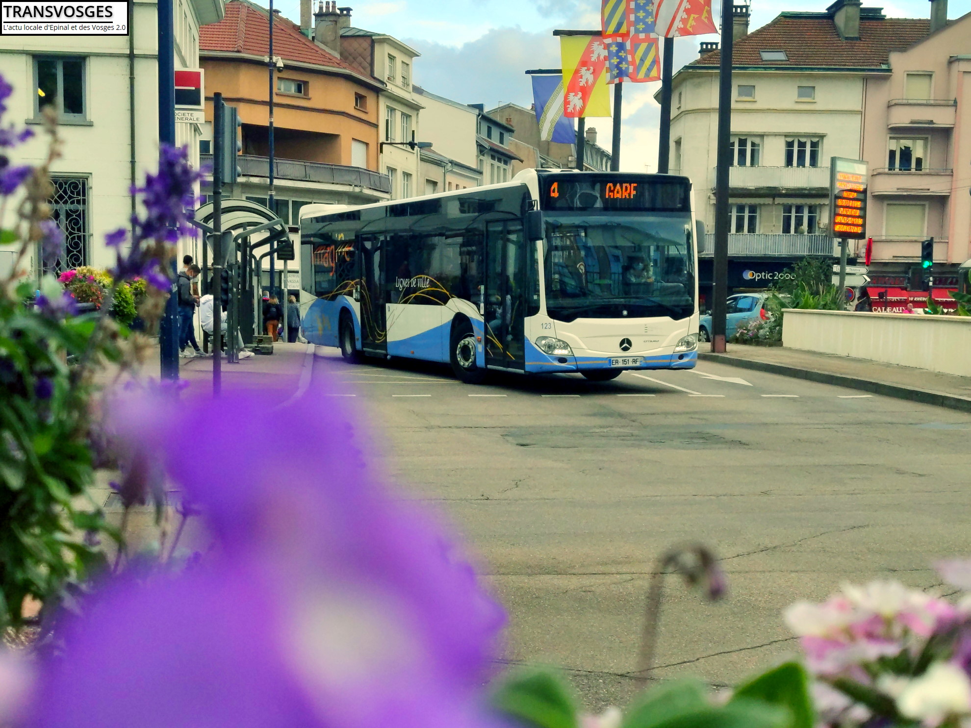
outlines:
{"label": "large blurred purple flower in the near foreground", "polygon": [[[253,392],[117,403],[113,428],[164,458],[218,547],[69,621],[33,725],[490,724],[475,695],[502,612],[434,519],[385,492],[328,386],[282,413]],[[187,456],[200,432],[219,458]]]}

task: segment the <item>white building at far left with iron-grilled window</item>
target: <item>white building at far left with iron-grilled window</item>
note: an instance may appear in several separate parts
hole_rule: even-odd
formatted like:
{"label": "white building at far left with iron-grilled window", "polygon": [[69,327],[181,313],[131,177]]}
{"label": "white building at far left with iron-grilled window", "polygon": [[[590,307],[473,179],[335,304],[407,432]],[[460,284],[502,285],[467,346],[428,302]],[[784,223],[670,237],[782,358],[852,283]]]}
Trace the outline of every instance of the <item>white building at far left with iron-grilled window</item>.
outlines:
{"label": "white building at far left with iron-grilled window", "polygon": [[[6,121],[26,120],[41,132],[41,107],[50,100],[60,110],[63,156],[51,168],[51,204],[67,242],[59,268],[113,263],[104,236],[128,226],[130,187],[157,168],[156,5],[132,3],[130,10],[128,36],[0,38],[0,74],[15,89]],[[222,17],[223,0],[176,0],[174,13],[176,69],[198,68],[199,26]],[[177,144],[188,145],[196,163],[200,131],[194,123],[176,126]],[[40,133],[13,153],[26,164],[46,155]]]}

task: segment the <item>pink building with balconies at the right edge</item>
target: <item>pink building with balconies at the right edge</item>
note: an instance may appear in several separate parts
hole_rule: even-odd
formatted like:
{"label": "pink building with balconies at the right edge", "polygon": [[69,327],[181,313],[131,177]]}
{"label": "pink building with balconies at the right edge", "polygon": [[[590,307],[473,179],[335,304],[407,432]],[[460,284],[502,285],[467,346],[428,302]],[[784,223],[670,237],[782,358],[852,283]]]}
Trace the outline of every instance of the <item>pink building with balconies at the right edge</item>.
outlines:
{"label": "pink building with balconies at the right edge", "polygon": [[971,258],[971,13],[946,17],[947,0],[932,0],[930,34],[865,81],[871,276],[905,275],[929,237],[935,272]]}

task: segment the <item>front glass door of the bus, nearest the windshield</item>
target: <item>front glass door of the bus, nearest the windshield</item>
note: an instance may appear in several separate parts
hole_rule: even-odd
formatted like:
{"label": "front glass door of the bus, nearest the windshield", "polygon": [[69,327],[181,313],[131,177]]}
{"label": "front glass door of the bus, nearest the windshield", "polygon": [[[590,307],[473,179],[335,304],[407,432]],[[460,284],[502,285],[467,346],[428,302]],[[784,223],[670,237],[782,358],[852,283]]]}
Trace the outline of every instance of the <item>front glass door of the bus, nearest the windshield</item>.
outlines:
{"label": "front glass door of the bus, nearest the windshield", "polygon": [[519,220],[485,226],[485,363],[522,369],[525,363],[526,255]]}

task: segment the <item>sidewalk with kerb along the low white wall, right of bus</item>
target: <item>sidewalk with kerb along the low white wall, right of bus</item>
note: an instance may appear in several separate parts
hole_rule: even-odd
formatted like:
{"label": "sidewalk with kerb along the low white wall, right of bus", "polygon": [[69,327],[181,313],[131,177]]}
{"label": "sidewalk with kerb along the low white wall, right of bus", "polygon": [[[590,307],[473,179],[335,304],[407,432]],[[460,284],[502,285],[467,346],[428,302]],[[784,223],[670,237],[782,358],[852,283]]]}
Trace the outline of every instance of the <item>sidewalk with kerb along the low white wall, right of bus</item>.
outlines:
{"label": "sidewalk with kerb along the low white wall, right of bus", "polygon": [[971,412],[971,378],[967,377],[787,347],[729,344],[724,354],[709,349],[710,345],[702,344],[698,358]]}

